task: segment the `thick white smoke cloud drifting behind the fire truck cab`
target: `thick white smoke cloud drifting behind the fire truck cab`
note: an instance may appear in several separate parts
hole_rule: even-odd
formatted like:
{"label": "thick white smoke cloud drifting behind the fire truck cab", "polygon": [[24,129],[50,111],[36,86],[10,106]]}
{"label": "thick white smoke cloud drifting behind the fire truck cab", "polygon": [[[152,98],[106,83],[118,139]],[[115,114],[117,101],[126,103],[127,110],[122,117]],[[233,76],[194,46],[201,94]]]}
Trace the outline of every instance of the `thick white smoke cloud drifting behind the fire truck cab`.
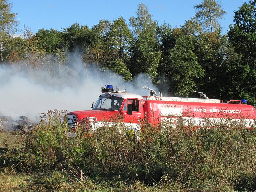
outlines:
{"label": "thick white smoke cloud drifting behind the fire truck cab", "polygon": [[71,62],[67,66],[59,65],[53,56],[45,58],[37,61],[36,67],[27,61],[0,67],[0,111],[5,116],[17,119],[24,115],[36,121],[38,113],[48,110],[90,110],[106,83],[140,95],[149,94],[141,88],[145,85],[158,91],[144,74],[124,82],[122,76],[98,72],[94,65],[85,69],[79,59],[74,60],[74,55],[69,56]]}

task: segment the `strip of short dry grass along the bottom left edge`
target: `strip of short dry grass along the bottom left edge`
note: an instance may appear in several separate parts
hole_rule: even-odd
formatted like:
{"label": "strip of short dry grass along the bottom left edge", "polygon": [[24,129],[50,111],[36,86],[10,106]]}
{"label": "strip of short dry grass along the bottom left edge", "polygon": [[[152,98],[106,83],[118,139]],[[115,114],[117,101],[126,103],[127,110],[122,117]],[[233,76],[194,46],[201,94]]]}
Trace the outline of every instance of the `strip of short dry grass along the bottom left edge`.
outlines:
{"label": "strip of short dry grass along the bottom left edge", "polygon": [[[167,192],[172,191],[173,186],[168,188],[161,188],[160,186],[152,187],[145,185],[140,181],[134,183],[122,183],[119,182],[107,182],[102,181],[101,183],[93,183],[85,177],[78,180],[74,178],[73,181],[69,180],[67,175],[64,173],[64,180],[62,178],[61,172],[48,172],[44,175],[39,175],[38,173],[25,174],[18,173],[15,171],[9,173],[0,173],[0,191],[97,191],[97,192],[109,192],[109,191],[141,191],[141,192]],[[177,186],[175,191],[177,190]]]}

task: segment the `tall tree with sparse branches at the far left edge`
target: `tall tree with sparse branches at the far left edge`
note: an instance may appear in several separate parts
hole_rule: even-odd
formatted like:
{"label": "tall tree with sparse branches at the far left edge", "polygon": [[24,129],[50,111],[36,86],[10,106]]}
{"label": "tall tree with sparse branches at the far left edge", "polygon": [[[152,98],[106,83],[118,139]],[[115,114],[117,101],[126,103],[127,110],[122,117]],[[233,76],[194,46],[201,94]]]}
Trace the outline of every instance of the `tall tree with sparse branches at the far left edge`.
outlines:
{"label": "tall tree with sparse branches at the far left edge", "polygon": [[3,47],[8,43],[10,35],[16,32],[18,20],[16,20],[17,13],[11,13],[12,3],[7,4],[6,0],[0,1],[0,61],[4,65]]}

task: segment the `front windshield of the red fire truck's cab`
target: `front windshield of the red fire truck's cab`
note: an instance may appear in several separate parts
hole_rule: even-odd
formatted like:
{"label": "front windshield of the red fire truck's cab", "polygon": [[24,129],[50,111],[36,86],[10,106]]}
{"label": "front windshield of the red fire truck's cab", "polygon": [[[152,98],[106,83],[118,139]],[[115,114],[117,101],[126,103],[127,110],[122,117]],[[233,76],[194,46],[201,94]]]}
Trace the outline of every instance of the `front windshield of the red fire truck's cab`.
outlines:
{"label": "front windshield of the red fire truck's cab", "polygon": [[118,111],[123,103],[123,98],[121,97],[99,97],[96,101],[93,109],[107,109]]}

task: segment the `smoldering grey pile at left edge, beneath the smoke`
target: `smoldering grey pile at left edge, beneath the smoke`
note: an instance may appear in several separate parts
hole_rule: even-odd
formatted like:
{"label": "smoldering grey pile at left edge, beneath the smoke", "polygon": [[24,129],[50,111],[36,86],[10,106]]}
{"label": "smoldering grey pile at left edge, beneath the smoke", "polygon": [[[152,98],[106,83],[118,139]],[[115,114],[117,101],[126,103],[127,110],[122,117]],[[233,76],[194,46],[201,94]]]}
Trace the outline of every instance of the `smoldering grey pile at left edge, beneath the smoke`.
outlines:
{"label": "smoldering grey pile at left edge, beneath the smoke", "polygon": [[0,112],[0,131],[29,132],[33,126],[33,121],[26,116],[20,116],[18,120],[13,120],[11,116],[4,116]]}

